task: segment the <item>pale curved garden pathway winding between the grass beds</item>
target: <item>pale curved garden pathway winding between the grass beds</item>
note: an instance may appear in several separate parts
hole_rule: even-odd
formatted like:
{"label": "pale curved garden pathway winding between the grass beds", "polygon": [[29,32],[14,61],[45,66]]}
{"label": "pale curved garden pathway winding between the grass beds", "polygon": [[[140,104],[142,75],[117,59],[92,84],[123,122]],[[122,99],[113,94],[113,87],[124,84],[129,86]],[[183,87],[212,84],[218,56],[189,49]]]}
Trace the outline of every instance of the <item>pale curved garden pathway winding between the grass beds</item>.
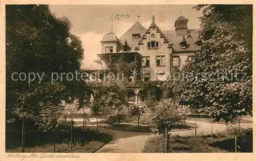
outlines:
{"label": "pale curved garden pathway winding between the grass beds", "polygon": [[[195,123],[194,121],[186,121],[187,123]],[[243,128],[252,128],[252,123],[242,123],[240,124]],[[95,125],[94,125],[95,126]],[[211,123],[204,123],[197,121],[197,134],[211,134]],[[226,125],[216,124],[213,125],[214,133],[226,130]],[[110,152],[110,153],[141,153],[146,140],[148,137],[154,136],[150,132],[129,132],[129,131],[119,131],[112,129],[105,129],[99,127],[99,131],[103,133],[108,133],[113,136],[113,140],[100,148],[97,153],[100,152]],[[172,134],[178,135],[195,135],[195,129],[185,130],[185,131],[174,131]]]}

